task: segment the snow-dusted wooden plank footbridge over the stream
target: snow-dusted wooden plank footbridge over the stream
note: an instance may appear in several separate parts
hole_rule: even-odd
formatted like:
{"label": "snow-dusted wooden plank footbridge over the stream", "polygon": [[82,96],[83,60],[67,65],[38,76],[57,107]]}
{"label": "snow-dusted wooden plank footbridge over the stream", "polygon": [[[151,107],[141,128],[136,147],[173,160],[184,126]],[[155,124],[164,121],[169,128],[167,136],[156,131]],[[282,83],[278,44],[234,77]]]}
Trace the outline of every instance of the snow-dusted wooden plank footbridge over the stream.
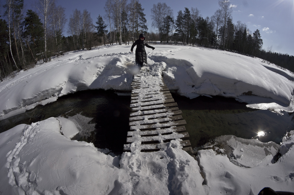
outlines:
{"label": "snow-dusted wooden plank footbridge over the stream", "polygon": [[131,86],[130,131],[124,151],[132,147],[141,152],[159,151],[166,142],[181,139],[183,150],[193,156],[186,121],[161,75],[137,74]]}

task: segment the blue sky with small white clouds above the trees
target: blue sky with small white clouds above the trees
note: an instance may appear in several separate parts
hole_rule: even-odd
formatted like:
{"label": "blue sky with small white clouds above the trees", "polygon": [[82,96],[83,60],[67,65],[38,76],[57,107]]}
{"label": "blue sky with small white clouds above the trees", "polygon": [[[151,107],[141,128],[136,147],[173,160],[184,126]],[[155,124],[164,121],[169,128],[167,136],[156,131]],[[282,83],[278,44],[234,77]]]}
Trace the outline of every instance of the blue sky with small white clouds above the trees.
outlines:
{"label": "blue sky with small white clouds above the trees", "polygon": [[[1,0],[1,5],[4,4]],[[24,0],[26,9],[33,9],[35,0]],[[97,17],[105,15],[104,5],[106,0],[56,0],[56,5],[66,8],[66,15],[69,18],[74,9],[83,11],[87,9],[91,13],[93,23]],[[146,14],[148,32],[156,31],[151,27],[151,8],[153,4],[165,2],[173,9],[174,17],[179,10],[184,11],[185,7],[198,8],[203,18],[211,17],[219,9],[218,0],[139,0]],[[263,39],[263,48],[266,50],[272,46],[273,50],[279,53],[288,53],[294,56],[294,0],[230,0],[233,6],[233,23],[237,21],[246,23],[249,30],[254,32],[260,30]],[[129,0],[128,0],[129,3]],[[2,7],[2,6],[1,6]],[[66,25],[67,28],[67,25]]]}

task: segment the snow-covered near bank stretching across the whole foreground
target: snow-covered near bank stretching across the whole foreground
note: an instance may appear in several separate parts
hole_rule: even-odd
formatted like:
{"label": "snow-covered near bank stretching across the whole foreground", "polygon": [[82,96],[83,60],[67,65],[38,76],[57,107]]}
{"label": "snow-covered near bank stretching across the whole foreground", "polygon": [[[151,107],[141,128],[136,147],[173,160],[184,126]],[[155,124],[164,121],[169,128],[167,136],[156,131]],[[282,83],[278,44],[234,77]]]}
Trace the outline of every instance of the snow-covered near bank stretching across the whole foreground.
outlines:
{"label": "snow-covered near bank stretching across the whole foreground", "polygon": [[[109,155],[107,149],[65,137],[66,131],[72,130],[66,120],[49,118],[0,134],[2,194],[257,195],[268,186],[275,191],[294,191],[294,131],[283,138],[278,162],[272,164],[268,159],[273,154],[267,153],[263,163],[245,168],[217,154],[225,150],[216,147],[198,151],[195,160],[178,141],[167,143],[158,152],[124,152],[120,159]],[[265,148],[273,150],[263,143],[255,147],[256,140],[241,142],[232,137],[227,144],[233,142],[236,152],[244,153],[236,157],[247,162],[250,151],[245,146],[250,142],[256,154],[265,154]],[[242,144],[245,146],[238,149]]]}

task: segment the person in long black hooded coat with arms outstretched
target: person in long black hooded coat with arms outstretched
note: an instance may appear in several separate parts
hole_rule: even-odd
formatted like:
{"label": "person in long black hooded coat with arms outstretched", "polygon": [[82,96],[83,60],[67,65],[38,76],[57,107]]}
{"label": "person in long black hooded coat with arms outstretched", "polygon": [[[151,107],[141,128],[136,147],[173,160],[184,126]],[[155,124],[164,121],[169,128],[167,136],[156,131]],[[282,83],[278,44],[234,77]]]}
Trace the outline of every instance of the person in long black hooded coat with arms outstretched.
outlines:
{"label": "person in long black hooded coat with arms outstretched", "polygon": [[155,48],[146,43],[144,34],[140,34],[139,39],[133,43],[133,45],[131,47],[132,53],[133,53],[133,48],[135,46],[137,46],[137,48],[136,48],[136,65],[138,65],[138,67],[141,69],[141,67],[143,66],[143,63],[147,64],[147,53],[145,51],[145,46],[148,48],[151,48],[152,50],[154,50]]}

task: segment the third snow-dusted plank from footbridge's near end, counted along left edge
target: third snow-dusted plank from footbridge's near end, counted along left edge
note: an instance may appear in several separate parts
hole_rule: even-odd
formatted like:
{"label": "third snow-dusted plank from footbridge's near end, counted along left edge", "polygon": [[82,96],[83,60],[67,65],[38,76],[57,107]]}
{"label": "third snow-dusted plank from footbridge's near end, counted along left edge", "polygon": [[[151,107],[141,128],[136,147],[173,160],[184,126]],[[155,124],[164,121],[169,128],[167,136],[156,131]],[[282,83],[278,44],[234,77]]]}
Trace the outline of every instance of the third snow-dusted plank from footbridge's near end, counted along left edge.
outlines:
{"label": "third snow-dusted plank from footbridge's near end, counted along left edge", "polygon": [[160,135],[171,132],[182,132],[186,131],[185,126],[180,127],[169,127],[166,129],[146,130],[146,131],[128,131],[127,136],[149,136],[149,135]]}

